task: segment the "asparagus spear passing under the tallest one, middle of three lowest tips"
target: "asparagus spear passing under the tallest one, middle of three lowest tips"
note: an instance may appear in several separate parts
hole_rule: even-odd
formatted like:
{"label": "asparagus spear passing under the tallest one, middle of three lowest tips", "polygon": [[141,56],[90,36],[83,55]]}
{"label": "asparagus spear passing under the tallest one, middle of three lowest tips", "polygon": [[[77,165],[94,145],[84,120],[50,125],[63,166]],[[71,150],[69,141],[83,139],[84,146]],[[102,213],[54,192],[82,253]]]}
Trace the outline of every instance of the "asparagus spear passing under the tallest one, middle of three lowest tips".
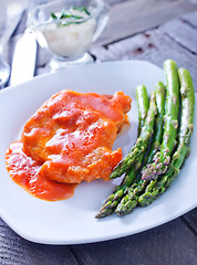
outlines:
{"label": "asparagus spear passing under the tallest one, middle of three lowest tips", "polygon": [[[164,119],[164,113],[165,113],[165,86],[162,82],[159,82],[156,85],[155,89],[156,95],[156,105],[157,105],[157,116],[155,119],[155,126],[154,126],[154,136],[151,144],[151,148],[148,151],[148,155],[146,157],[145,165],[148,165],[153,161],[153,157],[155,152],[158,150],[162,137],[163,137],[163,119]],[[121,202],[118,203],[116,208],[116,213],[120,216],[123,216],[125,214],[131,213],[138,203],[138,198],[146,189],[146,186],[149,183],[149,180],[142,180],[138,178],[129,189],[127,189],[126,194],[123,197]]]}

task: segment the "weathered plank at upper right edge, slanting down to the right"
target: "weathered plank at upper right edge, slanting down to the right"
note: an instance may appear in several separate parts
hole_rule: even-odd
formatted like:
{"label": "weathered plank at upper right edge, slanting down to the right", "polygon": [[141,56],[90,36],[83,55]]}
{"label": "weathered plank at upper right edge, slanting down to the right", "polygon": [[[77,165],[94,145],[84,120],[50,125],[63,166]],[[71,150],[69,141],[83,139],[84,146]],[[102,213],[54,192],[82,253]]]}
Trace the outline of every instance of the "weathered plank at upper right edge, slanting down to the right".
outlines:
{"label": "weathered plank at upper right edge, slanting down to the right", "polygon": [[159,29],[179,45],[197,54],[197,30],[186,23],[186,21],[175,19]]}

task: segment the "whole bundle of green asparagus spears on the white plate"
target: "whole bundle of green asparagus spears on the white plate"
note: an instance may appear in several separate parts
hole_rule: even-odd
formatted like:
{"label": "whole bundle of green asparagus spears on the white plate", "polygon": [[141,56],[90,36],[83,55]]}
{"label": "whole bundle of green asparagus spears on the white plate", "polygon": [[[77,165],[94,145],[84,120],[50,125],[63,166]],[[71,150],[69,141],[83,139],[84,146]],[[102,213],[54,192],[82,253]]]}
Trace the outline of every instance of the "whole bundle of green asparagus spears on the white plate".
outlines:
{"label": "whole bundle of green asparagus spears on the white plate", "polygon": [[189,72],[185,68],[177,71],[172,60],[164,62],[164,71],[167,86],[160,82],[156,85],[149,106],[145,86],[136,88],[138,138],[126,158],[112,172],[111,179],[123,173],[125,176],[96,214],[97,219],[114,212],[122,216],[137,205],[152,203],[170,186],[187,158],[194,127],[193,81]]}

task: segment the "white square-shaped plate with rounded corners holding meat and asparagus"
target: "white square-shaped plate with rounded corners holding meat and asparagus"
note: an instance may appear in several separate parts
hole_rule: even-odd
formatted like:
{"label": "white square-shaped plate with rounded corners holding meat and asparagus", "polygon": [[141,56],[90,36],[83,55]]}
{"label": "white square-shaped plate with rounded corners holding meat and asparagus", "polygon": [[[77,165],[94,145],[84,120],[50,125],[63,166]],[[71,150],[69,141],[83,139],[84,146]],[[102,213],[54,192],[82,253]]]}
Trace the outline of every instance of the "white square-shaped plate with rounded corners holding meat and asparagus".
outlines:
{"label": "white square-shaped plate with rounded corners holding meat and asparagus", "polygon": [[168,191],[152,205],[136,209],[124,218],[114,214],[103,220],[94,219],[120,179],[81,183],[71,199],[48,202],[30,195],[10,179],[6,170],[6,150],[13,140],[20,138],[25,121],[44,100],[64,88],[100,94],[124,91],[133,98],[131,127],[124,129],[114,145],[114,148],[122,147],[125,156],[136,139],[136,85],[145,84],[151,92],[157,81],[164,80],[163,71],[147,62],[108,62],[64,70],[3,89],[0,93],[0,215],[8,225],[33,242],[79,244],[135,234],[194,209],[197,205],[196,134],[191,139],[190,157]]}

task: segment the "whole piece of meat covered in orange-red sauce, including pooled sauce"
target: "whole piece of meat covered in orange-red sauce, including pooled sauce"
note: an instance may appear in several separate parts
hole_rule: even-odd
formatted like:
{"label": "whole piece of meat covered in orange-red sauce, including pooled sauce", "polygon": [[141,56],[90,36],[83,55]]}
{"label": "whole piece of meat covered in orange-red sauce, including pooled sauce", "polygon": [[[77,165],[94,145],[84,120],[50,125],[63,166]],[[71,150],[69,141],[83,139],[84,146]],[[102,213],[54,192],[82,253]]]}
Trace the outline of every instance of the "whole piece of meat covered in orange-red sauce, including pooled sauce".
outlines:
{"label": "whole piece of meat covered in orange-red sauce, including pooled sauce", "polygon": [[63,91],[51,97],[25,124],[21,140],[6,155],[7,169],[32,195],[56,201],[73,195],[81,181],[108,180],[122,159],[112,151],[126,121],[131,98]]}

